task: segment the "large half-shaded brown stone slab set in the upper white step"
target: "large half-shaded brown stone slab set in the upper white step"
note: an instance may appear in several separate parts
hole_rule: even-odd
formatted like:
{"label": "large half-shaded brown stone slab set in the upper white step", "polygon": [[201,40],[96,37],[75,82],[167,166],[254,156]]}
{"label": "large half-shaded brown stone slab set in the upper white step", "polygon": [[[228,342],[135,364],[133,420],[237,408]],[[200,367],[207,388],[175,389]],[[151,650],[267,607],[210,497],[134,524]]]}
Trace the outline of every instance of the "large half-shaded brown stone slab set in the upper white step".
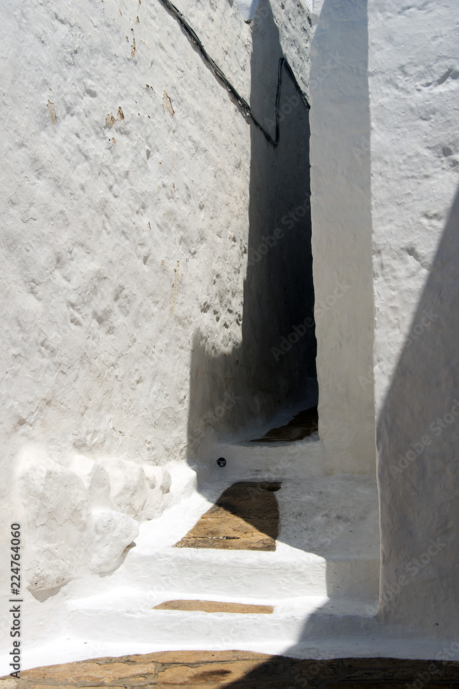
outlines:
{"label": "large half-shaded brown stone slab set in the upper white step", "polygon": [[230,486],[177,548],[275,551],[279,535],[279,482],[241,481]]}

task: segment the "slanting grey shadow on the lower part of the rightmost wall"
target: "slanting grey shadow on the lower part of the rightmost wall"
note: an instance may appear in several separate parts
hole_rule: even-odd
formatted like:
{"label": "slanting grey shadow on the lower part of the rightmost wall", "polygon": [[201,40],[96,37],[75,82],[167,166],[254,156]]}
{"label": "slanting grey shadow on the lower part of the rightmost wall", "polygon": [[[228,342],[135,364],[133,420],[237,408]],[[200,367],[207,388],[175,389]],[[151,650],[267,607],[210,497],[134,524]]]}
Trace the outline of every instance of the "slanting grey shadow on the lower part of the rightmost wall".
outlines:
{"label": "slanting grey shadow on the lower part of the rightmost wall", "polygon": [[[381,619],[457,635],[459,190],[378,418]],[[394,535],[396,535],[394,537]],[[419,601],[422,602],[420,606]]]}

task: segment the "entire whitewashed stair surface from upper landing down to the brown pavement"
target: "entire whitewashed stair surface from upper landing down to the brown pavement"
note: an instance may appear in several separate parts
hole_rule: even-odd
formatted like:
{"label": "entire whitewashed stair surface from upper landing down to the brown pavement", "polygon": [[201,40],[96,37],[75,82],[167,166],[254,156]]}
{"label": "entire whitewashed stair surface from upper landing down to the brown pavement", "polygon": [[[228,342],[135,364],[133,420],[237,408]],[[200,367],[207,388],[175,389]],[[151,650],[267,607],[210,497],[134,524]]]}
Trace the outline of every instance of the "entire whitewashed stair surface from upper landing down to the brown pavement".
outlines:
{"label": "entire whitewashed stair surface from upper landing down to the brown pavement", "polygon": [[[225,487],[213,484],[206,488],[209,499],[193,493],[158,520],[143,524],[136,547],[111,577],[71,582],[45,604],[28,599],[28,631],[34,633],[25,648],[23,667],[186,648],[239,648],[310,658],[429,658],[438,652],[438,657],[448,657],[441,639],[426,641],[416,630],[407,633],[374,617],[378,579],[374,480],[361,477],[356,493],[352,490],[356,479],[349,476],[283,485],[276,495],[284,526],[274,553],[171,547]],[[346,496],[347,513],[337,508],[339,491]],[[317,520],[326,522],[320,535]],[[336,528],[343,522],[352,524],[354,540],[350,529],[346,533]],[[302,524],[309,530],[309,552],[291,544],[295,535],[303,533]],[[322,555],[316,554],[319,548]],[[376,559],[365,559],[374,553]],[[336,565],[341,568],[335,569]],[[352,569],[347,580],[343,566]],[[376,588],[365,590],[375,575]],[[350,588],[330,588],[333,582]],[[256,602],[275,610],[273,615],[210,615],[152,609],[177,598]],[[0,672],[6,672],[7,662],[1,659]]]}

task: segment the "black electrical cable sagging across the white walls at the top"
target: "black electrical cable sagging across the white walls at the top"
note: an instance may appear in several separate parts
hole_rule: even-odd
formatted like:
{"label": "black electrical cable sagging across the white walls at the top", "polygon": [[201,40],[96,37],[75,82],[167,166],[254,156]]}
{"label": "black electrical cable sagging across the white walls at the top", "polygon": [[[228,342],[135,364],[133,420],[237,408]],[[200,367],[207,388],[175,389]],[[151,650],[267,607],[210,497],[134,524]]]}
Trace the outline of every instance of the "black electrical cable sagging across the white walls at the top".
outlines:
{"label": "black electrical cable sagging across the white walls at the top", "polygon": [[282,69],[285,68],[288,76],[290,76],[290,79],[292,80],[293,84],[295,85],[295,88],[297,89],[301,100],[303,103],[306,105],[308,110],[310,109],[310,105],[308,103],[308,99],[306,99],[306,96],[303,94],[301,91],[301,88],[299,88],[299,83],[297,82],[297,79],[295,79],[295,74],[292,72],[292,68],[286,61],[285,57],[281,57],[279,59],[279,69],[277,72],[277,92],[276,92],[276,106],[275,106],[275,122],[276,122],[276,136],[273,138],[268,132],[266,132],[266,129],[259,123],[255,115],[253,114],[253,110],[250,107],[250,105],[247,103],[246,99],[244,99],[237,90],[234,88],[233,84],[231,81],[229,81],[220,67],[215,64],[213,59],[207,54],[206,49],[204,48],[204,45],[202,45],[200,39],[198,38],[197,34],[195,31],[191,28],[189,23],[186,21],[184,18],[183,14],[173,5],[170,0],[160,0],[160,3],[164,5],[164,7],[173,14],[173,17],[175,19],[178,19],[180,21],[180,24],[182,25],[182,28],[186,35],[189,37],[191,43],[194,43],[198,49],[200,50],[200,53],[202,54],[202,57],[208,63],[211,67],[211,70],[217,77],[217,79],[220,79],[222,83],[226,86],[226,89],[228,90],[229,93],[231,93],[234,98],[237,101],[237,104],[241,108],[242,112],[244,112],[244,115],[247,117],[250,117],[250,119],[253,121],[255,125],[263,132],[264,136],[268,139],[269,143],[272,144],[274,147],[277,146],[279,143],[279,103],[281,100],[281,84],[282,84]]}

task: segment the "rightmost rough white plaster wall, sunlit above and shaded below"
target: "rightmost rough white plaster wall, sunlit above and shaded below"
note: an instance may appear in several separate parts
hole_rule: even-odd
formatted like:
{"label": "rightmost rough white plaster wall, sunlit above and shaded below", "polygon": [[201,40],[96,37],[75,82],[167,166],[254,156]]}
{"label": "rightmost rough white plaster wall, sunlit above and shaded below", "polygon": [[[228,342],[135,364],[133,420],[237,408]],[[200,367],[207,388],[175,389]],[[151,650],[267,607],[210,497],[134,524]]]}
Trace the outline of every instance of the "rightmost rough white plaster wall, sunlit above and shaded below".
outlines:
{"label": "rightmost rough white plaster wall, sunlit above and shaded below", "polygon": [[457,4],[368,15],[381,619],[456,639]]}

